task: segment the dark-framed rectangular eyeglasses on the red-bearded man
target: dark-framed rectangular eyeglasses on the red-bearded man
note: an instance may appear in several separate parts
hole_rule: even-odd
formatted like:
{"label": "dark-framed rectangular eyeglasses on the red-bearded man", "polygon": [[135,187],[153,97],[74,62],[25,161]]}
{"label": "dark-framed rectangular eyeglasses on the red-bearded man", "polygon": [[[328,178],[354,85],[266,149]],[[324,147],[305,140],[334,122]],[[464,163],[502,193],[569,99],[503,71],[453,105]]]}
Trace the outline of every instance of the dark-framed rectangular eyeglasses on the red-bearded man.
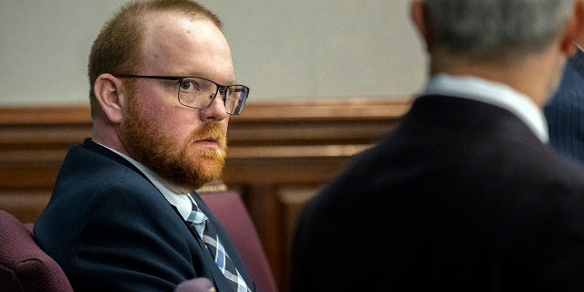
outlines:
{"label": "dark-framed rectangular eyeglasses on the red-bearded man", "polygon": [[221,85],[206,78],[199,77],[175,77],[175,76],[151,76],[117,74],[117,78],[150,78],[162,80],[176,80],[179,85],[179,102],[186,107],[204,110],[208,108],[217,96],[221,94],[225,110],[230,115],[238,115],[244,111],[245,100],[249,94],[249,88],[245,85]]}

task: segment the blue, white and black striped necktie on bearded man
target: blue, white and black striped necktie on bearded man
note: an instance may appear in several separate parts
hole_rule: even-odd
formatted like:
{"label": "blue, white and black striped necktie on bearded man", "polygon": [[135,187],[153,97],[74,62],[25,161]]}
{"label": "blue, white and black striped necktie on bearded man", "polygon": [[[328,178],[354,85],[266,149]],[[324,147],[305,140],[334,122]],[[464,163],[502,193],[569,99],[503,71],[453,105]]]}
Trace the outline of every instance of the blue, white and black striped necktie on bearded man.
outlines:
{"label": "blue, white and black striped necktie on bearded man", "polygon": [[231,258],[225,253],[224,246],[221,243],[219,236],[217,236],[213,224],[209,222],[207,216],[203,214],[197,204],[194,203],[194,200],[190,195],[189,198],[193,205],[193,211],[191,211],[191,214],[186,220],[193,225],[197,234],[201,236],[207,249],[211,252],[211,255],[213,255],[215,264],[217,264],[224,276],[233,284],[235,291],[250,291],[247,284],[245,284],[244,278],[239,274],[239,271],[237,271],[237,268],[231,261]]}

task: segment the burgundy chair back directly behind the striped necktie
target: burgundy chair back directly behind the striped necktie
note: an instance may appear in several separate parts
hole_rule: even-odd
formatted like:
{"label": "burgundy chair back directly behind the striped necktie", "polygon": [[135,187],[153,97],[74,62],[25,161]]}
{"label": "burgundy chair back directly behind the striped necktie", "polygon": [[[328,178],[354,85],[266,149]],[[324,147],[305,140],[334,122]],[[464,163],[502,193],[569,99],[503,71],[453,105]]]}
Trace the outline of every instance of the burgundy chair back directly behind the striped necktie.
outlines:
{"label": "burgundy chair back directly behind the striped necktie", "polygon": [[239,193],[227,190],[200,194],[242,253],[257,291],[276,292],[266,252]]}

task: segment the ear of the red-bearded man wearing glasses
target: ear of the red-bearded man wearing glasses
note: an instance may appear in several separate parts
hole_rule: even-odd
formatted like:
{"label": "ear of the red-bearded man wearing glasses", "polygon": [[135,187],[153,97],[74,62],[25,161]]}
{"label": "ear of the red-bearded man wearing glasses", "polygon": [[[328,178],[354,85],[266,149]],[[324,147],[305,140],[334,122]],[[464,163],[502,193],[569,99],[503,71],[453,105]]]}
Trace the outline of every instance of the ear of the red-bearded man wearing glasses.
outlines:
{"label": "ear of the red-bearded man wearing glasses", "polygon": [[122,89],[121,80],[108,73],[99,75],[93,86],[93,93],[101,109],[112,123],[120,123],[122,120],[125,102]]}

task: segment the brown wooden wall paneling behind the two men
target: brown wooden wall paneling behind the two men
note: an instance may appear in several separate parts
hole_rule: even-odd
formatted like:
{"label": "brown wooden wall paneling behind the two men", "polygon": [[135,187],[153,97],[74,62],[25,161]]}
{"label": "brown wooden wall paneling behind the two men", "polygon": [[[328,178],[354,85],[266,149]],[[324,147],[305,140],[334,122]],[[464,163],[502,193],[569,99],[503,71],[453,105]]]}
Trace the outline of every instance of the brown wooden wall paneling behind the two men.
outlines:
{"label": "brown wooden wall paneling behind the two men", "polygon": [[[298,211],[351,157],[393,130],[409,99],[250,103],[230,120],[222,180],[242,193],[281,292]],[[87,107],[0,108],[0,209],[34,222],[68,147],[89,137]]]}

